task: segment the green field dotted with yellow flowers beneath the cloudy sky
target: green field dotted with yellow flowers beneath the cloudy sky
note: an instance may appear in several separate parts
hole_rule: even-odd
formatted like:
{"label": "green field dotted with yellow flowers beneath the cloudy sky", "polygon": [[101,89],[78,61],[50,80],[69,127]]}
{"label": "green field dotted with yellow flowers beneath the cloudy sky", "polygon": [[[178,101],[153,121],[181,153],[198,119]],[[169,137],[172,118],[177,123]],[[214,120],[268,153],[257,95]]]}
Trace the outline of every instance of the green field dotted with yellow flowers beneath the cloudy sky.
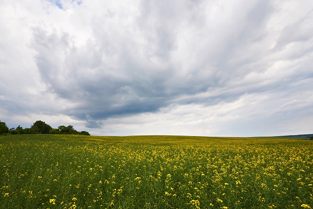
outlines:
{"label": "green field dotted with yellow flowers beneath the cloudy sky", "polygon": [[0,209],[313,208],[313,141],[0,136]]}

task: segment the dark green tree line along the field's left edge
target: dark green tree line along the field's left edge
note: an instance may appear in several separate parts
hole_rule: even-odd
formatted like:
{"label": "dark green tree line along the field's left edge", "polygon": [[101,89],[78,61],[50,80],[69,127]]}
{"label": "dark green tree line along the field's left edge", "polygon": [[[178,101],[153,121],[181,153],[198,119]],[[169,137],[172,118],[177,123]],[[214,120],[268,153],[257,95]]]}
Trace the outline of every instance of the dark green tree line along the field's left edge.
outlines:
{"label": "dark green tree line along the field's left edge", "polygon": [[30,128],[23,128],[18,126],[16,128],[8,128],[5,122],[0,120],[0,134],[74,134],[74,135],[88,135],[87,131],[76,131],[72,125],[61,125],[58,128],[52,128],[44,121],[37,120]]}

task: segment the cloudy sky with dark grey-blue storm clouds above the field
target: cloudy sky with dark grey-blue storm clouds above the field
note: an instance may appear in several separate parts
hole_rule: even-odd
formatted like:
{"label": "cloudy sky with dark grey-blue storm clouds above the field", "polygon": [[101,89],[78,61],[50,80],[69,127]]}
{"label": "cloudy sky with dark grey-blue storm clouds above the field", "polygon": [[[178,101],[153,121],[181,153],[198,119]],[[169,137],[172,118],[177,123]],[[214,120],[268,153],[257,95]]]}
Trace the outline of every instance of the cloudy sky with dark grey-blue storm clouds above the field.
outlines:
{"label": "cloudy sky with dark grey-blue storm clouds above the field", "polygon": [[312,0],[0,0],[9,128],[312,134],[312,60]]}

